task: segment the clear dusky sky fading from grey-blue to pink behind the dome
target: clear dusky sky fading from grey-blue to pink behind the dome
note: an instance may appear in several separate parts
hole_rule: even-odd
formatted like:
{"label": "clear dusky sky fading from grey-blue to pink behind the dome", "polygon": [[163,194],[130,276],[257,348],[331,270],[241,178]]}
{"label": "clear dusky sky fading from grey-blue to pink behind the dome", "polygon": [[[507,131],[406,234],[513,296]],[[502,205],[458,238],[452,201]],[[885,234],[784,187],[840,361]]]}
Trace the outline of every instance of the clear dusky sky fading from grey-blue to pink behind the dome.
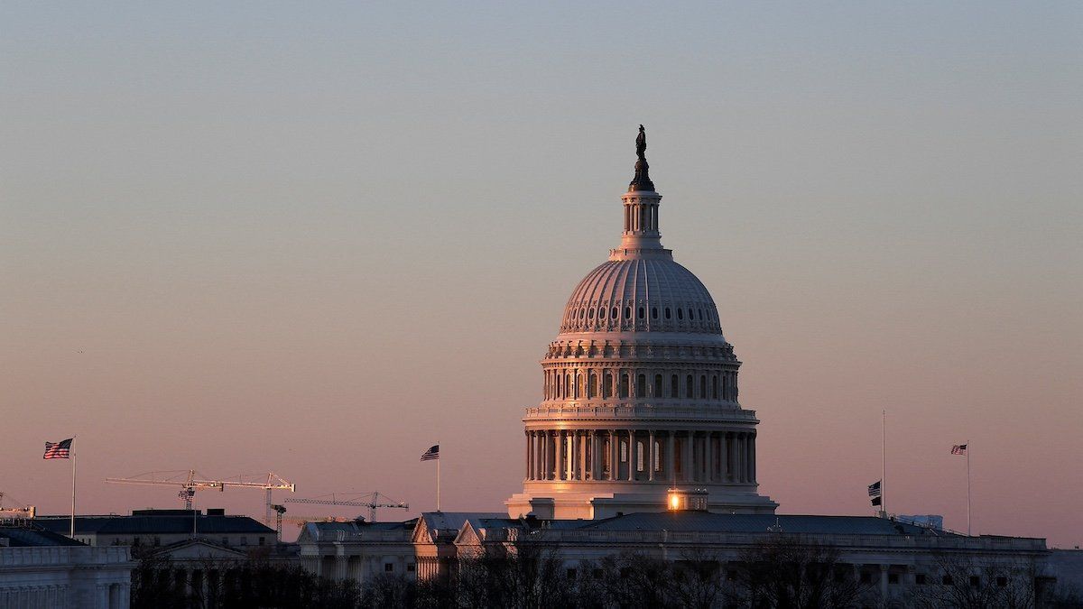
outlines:
{"label": "clear dusky sky fading from grey-blue to pink behind the dome", "polygon": [[966,442],[976,532],[1083,544],[1081,99],[1070,1],[0,4],[4,505],[77,435],[80,513],[406,518],[436,442],[503,509],[643,124],[780,513],[872,514],[886,411],[890,511],[965,530]]}

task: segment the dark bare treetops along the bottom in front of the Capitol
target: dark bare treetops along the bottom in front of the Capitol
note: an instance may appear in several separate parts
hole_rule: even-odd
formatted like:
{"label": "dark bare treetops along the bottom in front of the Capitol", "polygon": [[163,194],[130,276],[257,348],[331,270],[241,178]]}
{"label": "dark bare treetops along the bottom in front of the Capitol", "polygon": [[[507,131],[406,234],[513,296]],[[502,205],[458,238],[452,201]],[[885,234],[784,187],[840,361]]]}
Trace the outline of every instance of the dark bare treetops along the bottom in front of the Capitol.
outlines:
{"label": "dark bare treetops along the bottom in front of the Capitol", "polygon": [[[332,581],[300,567],[265,560],[208,562],[198,576],[147,558],[133,573],[133,609],[321,607],[509,608],[862,608],[1072,607],[1052,591],[1035,596],[1032,567],[974,563],[938,557],[938,576],[922,585],[892,584],[880,598],[880,574],[839,561],[832,547],[805,545],[780,535],[722,561],[705,553],[664,557],[619,554],[569,565],[543,543],[494,544],[460,558],[445,578],[416,582],[380,575],[364,585]],[[182,574],[179,574],[182,573]],[[875,576],[874,576],[875,575]],[[895,592],[896,589],[900,592]],[[1041,591],[1039,591],[1041,592]],[[1035,599],[1041,598],[1041,602]],[[1077,597],[1078,599],[1078,597]]]}

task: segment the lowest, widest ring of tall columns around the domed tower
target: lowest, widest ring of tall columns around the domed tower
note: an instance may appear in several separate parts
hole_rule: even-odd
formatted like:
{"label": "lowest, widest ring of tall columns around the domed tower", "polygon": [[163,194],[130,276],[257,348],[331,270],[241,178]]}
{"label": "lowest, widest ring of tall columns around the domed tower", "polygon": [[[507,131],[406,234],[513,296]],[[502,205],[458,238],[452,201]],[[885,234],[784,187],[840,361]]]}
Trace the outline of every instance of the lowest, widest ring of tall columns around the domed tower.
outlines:
{"label": "lowest, widest ring of tall columns around the domed tower", "polygon": [[526,480],[756,481],[755,431],[527,429]]}

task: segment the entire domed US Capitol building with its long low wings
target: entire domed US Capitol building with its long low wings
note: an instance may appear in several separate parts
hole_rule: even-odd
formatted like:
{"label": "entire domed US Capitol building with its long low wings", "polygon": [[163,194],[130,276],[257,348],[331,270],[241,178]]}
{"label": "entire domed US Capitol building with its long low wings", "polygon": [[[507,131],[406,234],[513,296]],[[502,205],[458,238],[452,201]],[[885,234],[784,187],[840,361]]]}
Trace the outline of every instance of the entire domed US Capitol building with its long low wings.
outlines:
{"label": "entire domed US Capitol building with its long low wings", "polygon": [[879,606],[910,606],[916,592],[952,582],[1048,588],[1056,554],[1042,539],[968,535],[883,511],[775,513],[759,493],[759,420],[740,401],[741,361],[710,293],[662,244],[642,126],[636,150],[621,242],[572,290],[542,359],[542,400],[523,416],[522,492],[501,511],[308,522],[304,568],[362,582],[446,581],[464,558],[529,541],[556,549],[569,582],[597,576],[615,556],[709,556],[728,579],[749,550],[781,540],[830,550],[834,581],[867,586]]}

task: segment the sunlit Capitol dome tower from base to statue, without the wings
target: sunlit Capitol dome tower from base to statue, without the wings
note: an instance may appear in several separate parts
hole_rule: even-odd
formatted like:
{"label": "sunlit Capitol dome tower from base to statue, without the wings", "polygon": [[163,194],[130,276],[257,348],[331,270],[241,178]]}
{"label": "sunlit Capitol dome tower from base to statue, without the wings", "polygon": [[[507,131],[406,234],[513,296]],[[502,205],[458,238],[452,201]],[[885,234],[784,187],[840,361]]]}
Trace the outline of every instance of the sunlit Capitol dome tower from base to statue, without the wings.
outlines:
{"label": "sunlit Capitol dome tower from base to statue, without the wings", "polygon": [[526,409],[523,492],[512,517],[661,511],[671,488],[712,511],[773,513],[757,493],[756,413],[738,401],[741,362],[715,301],[662,246],[658,204],[637,139],[621,246],[572,291]]}

